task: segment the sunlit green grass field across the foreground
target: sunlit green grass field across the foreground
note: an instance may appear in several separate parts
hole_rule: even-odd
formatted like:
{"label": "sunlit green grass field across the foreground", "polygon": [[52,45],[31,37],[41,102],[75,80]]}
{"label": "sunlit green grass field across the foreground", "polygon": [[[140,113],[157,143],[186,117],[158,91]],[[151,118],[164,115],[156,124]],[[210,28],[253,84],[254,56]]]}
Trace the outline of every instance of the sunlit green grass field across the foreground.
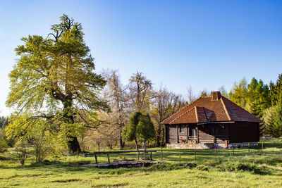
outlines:
{"label": "sunlit green grass field across the foreground", "polygon": [[[261,143],[254,149],[194,150],[157,149],[149,168],[99,169],[80,167],[94,158],[59,156],[41,164],[26,165],[0,153],[0,187],[282,187],[282,141]],[[180,156],[180,161],[179,161]],[[121,160],[111,155],[111,160]],[[127,153],[126,158],[136,154]],[[106,156],[99,156],[106,162]]]}

